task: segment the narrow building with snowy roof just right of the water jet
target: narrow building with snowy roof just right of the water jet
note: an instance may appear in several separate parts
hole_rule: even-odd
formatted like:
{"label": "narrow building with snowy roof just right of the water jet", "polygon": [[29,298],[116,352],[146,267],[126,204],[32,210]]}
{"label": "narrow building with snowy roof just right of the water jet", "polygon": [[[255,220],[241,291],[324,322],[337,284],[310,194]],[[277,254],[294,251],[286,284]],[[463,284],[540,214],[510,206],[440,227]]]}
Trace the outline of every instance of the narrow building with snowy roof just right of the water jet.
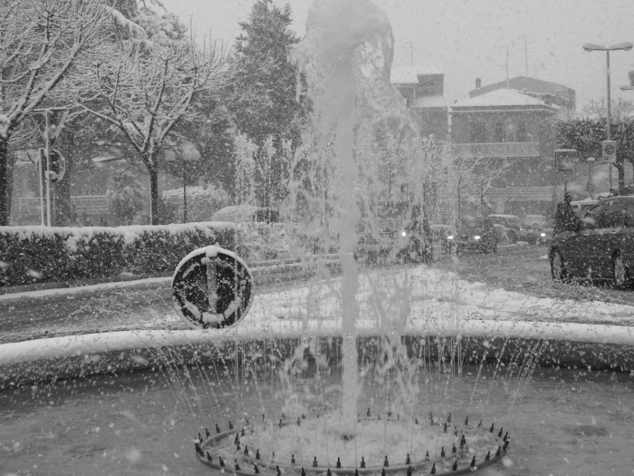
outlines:
{"label": "narrow building with snowy roof just right of the water jet", "polygon": [[445,73],[434,67],[393,68],[390,80],[403,96],[405,105],[420,120],[421,136],[435,134],[440,139],[446,139],[449,128]]}

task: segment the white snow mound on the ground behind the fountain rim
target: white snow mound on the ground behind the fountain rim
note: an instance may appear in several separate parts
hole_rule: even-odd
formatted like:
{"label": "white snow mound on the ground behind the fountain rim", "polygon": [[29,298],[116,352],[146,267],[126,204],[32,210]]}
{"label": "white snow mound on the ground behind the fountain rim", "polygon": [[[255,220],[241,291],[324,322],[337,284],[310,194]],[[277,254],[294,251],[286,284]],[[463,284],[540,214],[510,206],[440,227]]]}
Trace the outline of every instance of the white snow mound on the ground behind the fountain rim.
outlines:
{"label": "white snow mound on the ground behind the fountain rim", "polygon": [[[340,278],[319,287],[299,287],[256,296],[247,320],[338,319]],[[484,283],[469,283],[433,267],[376,271],[360,276],[360,317],[383,322],[383,316],[408,319],[502,319],[600,323],[631,318],[634,306],[526,296]]]}

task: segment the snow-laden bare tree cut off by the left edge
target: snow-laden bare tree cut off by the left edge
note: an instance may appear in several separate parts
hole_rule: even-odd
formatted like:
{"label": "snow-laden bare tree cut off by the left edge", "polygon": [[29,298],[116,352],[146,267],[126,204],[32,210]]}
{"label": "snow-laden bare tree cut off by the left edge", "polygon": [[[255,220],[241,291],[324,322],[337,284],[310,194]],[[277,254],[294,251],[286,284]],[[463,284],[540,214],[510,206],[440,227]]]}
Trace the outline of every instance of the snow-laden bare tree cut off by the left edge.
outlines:
{"label": "snow-laden bare tree cut off by the left edge", "polygon": [[120,23],[121,15],[103,0],[0,2],[0,226],[9,222],[9,141],[79,58],[104,40],[102,25],[112,19]]}

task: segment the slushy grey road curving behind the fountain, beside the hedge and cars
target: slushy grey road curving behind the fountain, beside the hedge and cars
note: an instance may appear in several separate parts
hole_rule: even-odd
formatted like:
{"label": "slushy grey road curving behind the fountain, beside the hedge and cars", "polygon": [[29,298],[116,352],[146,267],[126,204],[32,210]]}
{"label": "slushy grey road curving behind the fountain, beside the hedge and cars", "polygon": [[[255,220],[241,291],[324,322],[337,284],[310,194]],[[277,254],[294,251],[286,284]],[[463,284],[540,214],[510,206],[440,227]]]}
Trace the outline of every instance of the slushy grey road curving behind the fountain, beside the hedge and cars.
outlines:
{"label": "slushy grey road curving behind the fountain, beside the hedge and cars", "polygon": [[[528,296],[602,301],[634,306],[634,292],[587,283],[559,284],[550,277],[543,247],[500,248],[493,255],[467,254],[435,266]],[[255,295],[300,287],[311,278],[294,278],[255,287]],[[19,299],[0,299],[0,344],[77,333],[131,329],[186,329],[172,306],[168,280]]]}

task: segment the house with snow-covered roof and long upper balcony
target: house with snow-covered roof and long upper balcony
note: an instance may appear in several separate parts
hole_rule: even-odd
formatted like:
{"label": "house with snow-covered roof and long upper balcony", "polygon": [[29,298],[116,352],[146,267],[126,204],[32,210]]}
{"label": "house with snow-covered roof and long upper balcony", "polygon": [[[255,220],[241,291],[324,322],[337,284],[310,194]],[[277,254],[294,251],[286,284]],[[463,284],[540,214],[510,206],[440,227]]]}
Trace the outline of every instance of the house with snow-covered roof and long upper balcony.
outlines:
{"label": "house with snow-covered roof and long upper balcony", "polygon": [[[498,159],[509,166],[484,192],[489,211],[550,215],[558,178],[552,173],[554,144],[548,120],[562,106],[514,89],[484,89],[477,88],[477,94],[451,107],[455,155]],[[462,206],[466,199],[478,211],[482,193],[477,184],[471,185],[461,196],[460,208],[468,209]]]}

